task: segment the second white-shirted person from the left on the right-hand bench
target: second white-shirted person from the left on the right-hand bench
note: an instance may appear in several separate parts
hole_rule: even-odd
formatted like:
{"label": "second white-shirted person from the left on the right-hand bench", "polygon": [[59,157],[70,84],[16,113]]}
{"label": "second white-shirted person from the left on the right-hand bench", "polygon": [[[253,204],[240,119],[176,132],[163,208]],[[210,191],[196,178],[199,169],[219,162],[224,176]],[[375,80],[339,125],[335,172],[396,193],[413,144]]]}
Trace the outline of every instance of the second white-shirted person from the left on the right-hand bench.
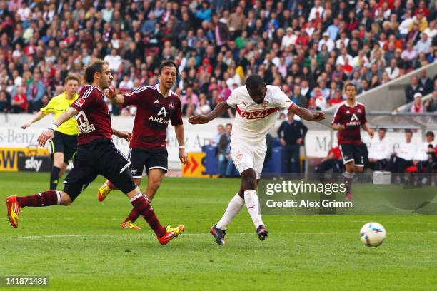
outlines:
{"label": "second white-shirted person from the left on the right-hand bench", "polygon": [[[413,132],[409,129],[405,131],[406,141],[399,144],[399,148],[393,153],[388,162],[387,169],[391,173],[401,173],[401,182],[403,183],[406,168],[411,167],[413,164],[413,156],[416,154],[416,143],[411,141],[413,138]],[[394,175],[392,175],[394,178]]]}

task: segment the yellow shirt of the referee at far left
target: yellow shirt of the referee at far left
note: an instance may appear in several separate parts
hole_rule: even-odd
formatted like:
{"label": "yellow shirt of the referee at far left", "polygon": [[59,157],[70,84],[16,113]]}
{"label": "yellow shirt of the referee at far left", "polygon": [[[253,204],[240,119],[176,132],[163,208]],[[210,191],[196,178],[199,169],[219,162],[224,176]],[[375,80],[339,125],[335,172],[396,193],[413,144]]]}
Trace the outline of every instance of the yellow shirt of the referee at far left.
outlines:
{"label": "yellow shirt of the referee at far left", "polygon": [[[44,115],[48,113],[54,113],[56,120],[56,118],[58,118],[71,106],[71,103],[76,101],[78,96],[79,94],[76,93],[73,99],[67,99],[66,92],[61,93],[58,96],[51,98],[47,106],[41,108],[41,112],[44,113]],[[68,134],[69,136],[77,136],[79,134],[79,128],[77,126],[76,118],[72,117],[68,121],[62,123],[58,127],[57,131]]]}

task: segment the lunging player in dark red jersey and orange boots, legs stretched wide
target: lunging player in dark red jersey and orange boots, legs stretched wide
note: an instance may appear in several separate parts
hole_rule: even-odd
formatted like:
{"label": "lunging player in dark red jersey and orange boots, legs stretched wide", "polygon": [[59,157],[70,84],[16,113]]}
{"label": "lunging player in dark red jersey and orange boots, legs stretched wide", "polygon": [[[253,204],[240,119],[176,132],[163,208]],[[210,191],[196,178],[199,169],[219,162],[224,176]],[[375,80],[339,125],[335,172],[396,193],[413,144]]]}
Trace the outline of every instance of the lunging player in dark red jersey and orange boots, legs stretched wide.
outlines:
{"label": "lunging player in dark red jersey and orange boots, legs stretched wide", "polygon": [[[109,63],[106,61],[91,63],[84,71],[84,79],[89,85],[82,88],[76,102],[38,137],[39,146],[44,146],[46,141],[54,137],[56,129],[62,123],[77,115],[80,131],[78,148],[74,156],[74,168],[64,180],[64,190],[49,190],[36,195],[7,197],[6,207],[12,227],[18,227],[21,208],[70,205],[100,174],[109,178],[126,194],[136,211],[141,213],[154,230],[161,245],[166,245],[184,230],[184,225],[179,225],[177,228],[170,226],[164,228],[159,223],[151,205],[134,183],[129,170],[129,160],[121,154],[112,141],[113,133],[121,138],[130,137],[129,133],[114,131],[111,128],[111,116],[104,101],[103,91],[109,88],[112,78]],[[109,98],[114,98],[114,91],[109,91]]]}

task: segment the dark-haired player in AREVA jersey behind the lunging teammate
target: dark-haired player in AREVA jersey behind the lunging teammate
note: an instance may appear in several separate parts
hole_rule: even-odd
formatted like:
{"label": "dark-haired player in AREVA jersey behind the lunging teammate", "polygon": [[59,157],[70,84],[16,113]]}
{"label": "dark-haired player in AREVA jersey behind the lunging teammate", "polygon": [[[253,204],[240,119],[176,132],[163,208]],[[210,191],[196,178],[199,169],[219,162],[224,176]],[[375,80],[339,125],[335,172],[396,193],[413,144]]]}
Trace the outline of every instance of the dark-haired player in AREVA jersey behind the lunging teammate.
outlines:
{"label": "dark-haired player in AREVA jersey behind the lunging teammate", "polygon": [[[169,171],[166,129],[170,121],[179,143],[179,159],[181,163],[186,163],[181,101],[179,96],[171,91],[176,81],[177,71],[178,68],[173,61],[166,61],[159,67],[157,85],[143,86],[131,93],[111,96],[115,103],[123,106],[137,106],[132,140],[129,144],[130,170],[136,185],[140,185],[143,169],[146,167],[148,184],[144,195],[149,203],[161,185],[164,175]],[[114,184],[106,180],[97,194],[99,201],[103,201],[114,189],[116,189]],[[121,223],[121,228],[141,229],[134,224],[137,218],[139,218],[139,213],[134,208]]]}

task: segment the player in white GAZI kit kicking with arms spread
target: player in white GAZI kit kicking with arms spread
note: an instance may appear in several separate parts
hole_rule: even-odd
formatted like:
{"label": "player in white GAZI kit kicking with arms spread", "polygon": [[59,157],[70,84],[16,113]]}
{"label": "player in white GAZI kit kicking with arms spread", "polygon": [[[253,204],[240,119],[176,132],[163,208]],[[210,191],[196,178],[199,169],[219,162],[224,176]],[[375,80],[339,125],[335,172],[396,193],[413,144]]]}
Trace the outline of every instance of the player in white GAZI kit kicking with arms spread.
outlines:
{"label": "player in white GAZI kit kicking with arms spread", "polygon": [[307,121],[321,121],[323,112],[311,113],[297,106],[277,86],[266,86],[258,75],[249,76],[246,86],[236,88],[228,100],[219,103],[211,113],[189,118],[191,124],[204,124],[221,116],[229,108],[236,108],[237,116],[231,132],[231,156],[241,175],[241,188],[231,199],[228,208],[210,233],[219,245],[224,245],[226,226],[246,205],[260,240],[265,240],[268,230],[258,214],[256,187],[266,156],[266,135],[278,118],[278,111],[288,109]]}

